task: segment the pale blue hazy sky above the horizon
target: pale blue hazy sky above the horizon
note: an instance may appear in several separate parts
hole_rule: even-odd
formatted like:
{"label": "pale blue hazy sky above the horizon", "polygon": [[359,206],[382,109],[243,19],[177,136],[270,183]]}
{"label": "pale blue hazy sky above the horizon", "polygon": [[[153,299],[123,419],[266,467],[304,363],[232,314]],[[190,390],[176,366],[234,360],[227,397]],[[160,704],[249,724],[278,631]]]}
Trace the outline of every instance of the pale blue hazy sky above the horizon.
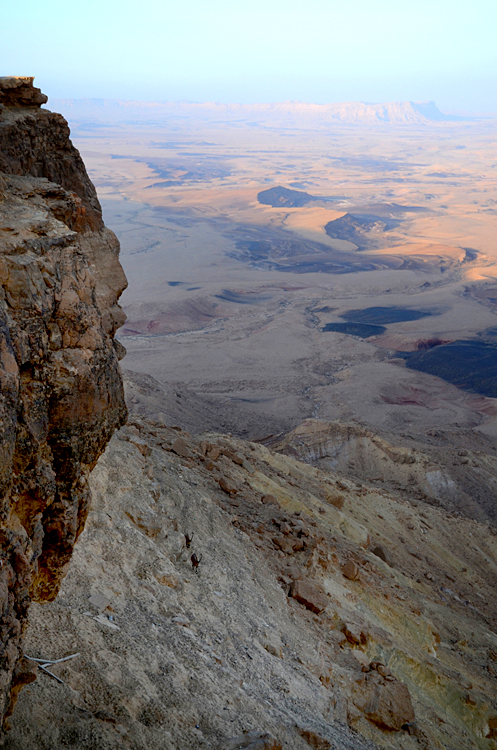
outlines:
{"label": "pale blue hazy sky above the horizon", "polygon": [[51,97],[497,111],[497,0],[3,0],[1,15],[0,75]]}

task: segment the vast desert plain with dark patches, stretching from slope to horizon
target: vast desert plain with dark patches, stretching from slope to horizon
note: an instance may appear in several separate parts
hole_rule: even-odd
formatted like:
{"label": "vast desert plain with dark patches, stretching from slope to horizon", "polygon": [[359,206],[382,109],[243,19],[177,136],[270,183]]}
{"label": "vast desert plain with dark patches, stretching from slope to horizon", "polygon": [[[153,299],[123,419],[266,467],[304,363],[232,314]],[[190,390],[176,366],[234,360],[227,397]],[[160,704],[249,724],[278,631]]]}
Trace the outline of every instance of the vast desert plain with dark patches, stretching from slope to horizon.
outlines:
{"label": "vast desert plain with dark patches, stretching from slope to horizon", "polygon": [[57,105],[122,244],[125,368],[210,399],[208,427],[251,438],[307,417],[495,434],[493,370],[465,390],[467,373],[460,388],[399,356],[493,351],[491,121]]}

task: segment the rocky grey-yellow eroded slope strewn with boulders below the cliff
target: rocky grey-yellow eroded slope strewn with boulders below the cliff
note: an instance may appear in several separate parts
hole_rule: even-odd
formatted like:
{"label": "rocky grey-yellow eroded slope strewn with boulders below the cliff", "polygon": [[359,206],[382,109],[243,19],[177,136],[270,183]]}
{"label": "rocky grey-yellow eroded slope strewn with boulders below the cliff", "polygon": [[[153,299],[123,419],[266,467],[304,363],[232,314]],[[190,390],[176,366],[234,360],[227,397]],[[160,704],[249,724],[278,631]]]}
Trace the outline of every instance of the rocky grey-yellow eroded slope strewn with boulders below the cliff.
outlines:
{"label": "rocky grey-yellow eroded slope strewn with boulders below the cliff", "polygon": [[91,482],[7,747],[495,746],[489,526],[136,417]]}

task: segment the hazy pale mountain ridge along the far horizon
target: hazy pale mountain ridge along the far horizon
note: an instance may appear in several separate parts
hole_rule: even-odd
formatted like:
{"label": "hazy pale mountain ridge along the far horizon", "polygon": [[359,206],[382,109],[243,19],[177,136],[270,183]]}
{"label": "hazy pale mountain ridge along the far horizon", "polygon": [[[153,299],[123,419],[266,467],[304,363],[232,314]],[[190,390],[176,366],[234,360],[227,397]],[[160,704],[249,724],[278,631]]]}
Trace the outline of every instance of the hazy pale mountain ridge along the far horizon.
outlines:
{"label": "hazy pale mountain ridge along the far horizon", "polygon": [[69,119],[94,122],[157,122],[169,118],[204,119],[211,122],[246,122],[253,126],[282,121],[325,125],[428,125],[475,118],[441,112],[435,102],[340,102],[309,104],[222,104],[216,102],[140,102],[118,99],[54,99],[49,104]]}

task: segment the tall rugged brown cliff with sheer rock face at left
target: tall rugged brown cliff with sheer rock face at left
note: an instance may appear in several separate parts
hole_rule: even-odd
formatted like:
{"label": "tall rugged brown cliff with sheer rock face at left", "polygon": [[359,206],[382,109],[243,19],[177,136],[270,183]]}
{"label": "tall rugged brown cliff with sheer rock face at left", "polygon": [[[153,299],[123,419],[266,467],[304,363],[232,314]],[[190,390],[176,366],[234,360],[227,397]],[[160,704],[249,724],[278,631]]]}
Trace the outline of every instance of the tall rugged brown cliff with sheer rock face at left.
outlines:
{"label": "tall rugged brown cliff with sheer rock face at left", "polygon": [[[30,601],[52,600],[88,475],[126,417],[119,243],[69,128],[32,78],[0,78],[0,718],[33,669]],[[11,700],[12,699],[12,700]]]}

